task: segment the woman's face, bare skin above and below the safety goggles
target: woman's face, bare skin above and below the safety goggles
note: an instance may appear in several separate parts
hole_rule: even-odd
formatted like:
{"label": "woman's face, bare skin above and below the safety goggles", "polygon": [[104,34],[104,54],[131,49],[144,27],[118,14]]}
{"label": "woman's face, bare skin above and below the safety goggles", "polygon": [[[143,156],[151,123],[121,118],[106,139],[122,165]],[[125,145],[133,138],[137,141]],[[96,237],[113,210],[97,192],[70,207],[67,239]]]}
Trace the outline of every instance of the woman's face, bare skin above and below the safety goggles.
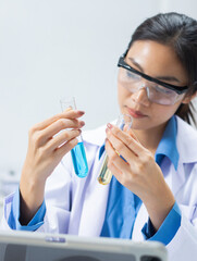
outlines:
{"label": "woman's face, bare skin above and below the safety goggles", "polygon": [[[168,46],[150,40],[135,41],[127,52],[125,62],[137,71],[165,83],[187,85],[186,72],[174,51]],[[150,129],[164,125],[184,101],[182,98],[173,105],[158,104],[148,100],[145,88],[131,92],[120,82],[118,96],[121,112],[132,115],[132,126],[135,129]]]}

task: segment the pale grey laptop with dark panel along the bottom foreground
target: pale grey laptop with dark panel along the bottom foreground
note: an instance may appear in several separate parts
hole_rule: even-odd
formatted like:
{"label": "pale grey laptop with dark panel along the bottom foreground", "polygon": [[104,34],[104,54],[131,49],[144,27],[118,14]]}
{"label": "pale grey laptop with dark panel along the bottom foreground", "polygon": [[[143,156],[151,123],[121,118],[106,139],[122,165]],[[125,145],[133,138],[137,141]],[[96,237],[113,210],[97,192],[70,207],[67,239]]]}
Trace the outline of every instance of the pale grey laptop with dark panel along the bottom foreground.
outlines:
{"label": "pale grey laptop with dark panel along the bottom foreground", "polygon": [[0,261],[167,261],[157,241],[0,232]]}

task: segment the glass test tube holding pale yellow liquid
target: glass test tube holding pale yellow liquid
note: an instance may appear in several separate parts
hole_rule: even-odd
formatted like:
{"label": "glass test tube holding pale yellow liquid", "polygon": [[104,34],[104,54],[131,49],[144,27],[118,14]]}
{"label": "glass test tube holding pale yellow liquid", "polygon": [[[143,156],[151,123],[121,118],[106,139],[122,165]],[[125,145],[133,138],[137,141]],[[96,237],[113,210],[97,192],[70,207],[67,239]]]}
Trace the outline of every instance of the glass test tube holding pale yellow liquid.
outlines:
{"label": "glass test tube holding pale yellow liquid", "polygon": [[[115,125],[119,126],[121,129],[124,129],[125,132],[130,130],[130,128],[132,127],[132,116],[128,114],[121,114]],[[119,154],[118,151],[116,153]],[[119,154],[119,157],[121,157],[124,160],[124,158],[121,154]],[[112,173],[108,169],[108,156],[104,151],[104,158],[99,172],[98,182],[102,185],[108,185],[111,182],[111,178]]]}

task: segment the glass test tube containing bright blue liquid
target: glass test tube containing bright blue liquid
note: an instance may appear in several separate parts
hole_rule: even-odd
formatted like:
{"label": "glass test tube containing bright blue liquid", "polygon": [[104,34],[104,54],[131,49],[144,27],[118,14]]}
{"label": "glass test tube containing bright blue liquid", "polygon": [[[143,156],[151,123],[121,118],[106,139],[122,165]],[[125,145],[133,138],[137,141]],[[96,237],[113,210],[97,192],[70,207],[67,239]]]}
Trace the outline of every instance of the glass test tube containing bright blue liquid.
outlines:
{"label": "glass test tube containing bright blue liquid", "polygon": [[[60,103],[61,103],[62,111],[69,108],[76,110],[76,102],[74,97],[71,98],[70,100],[61,99]],[[71,150],[73,166],[74,166],[75,174],[78,177],[86,177],[88,174],[88,164],[87,164],[87,158],[86,158],[82,134],[77,137],[77,139],[78,139],[78,144]]]}

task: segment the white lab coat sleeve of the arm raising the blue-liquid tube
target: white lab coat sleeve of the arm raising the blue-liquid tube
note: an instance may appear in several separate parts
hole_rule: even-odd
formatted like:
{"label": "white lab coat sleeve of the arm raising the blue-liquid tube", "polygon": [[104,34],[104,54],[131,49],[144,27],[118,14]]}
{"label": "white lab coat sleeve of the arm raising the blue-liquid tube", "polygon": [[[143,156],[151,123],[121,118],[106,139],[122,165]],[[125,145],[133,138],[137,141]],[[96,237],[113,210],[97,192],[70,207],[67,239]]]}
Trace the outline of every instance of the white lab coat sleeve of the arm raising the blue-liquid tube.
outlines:
{"label": "white lab coat sleeve of the arm raising the blue-liquid tube", "polygon": [[[69,153],[48,177],[45,188],[46,214],[44,224],[37,228],[37,232],[67,233],[71,213],[72,167],[72,160]],[[3,217],[0,224],[1,231],[11,229],[8,220],[11,213],[12,201],[13,194],[4,199]]]}

